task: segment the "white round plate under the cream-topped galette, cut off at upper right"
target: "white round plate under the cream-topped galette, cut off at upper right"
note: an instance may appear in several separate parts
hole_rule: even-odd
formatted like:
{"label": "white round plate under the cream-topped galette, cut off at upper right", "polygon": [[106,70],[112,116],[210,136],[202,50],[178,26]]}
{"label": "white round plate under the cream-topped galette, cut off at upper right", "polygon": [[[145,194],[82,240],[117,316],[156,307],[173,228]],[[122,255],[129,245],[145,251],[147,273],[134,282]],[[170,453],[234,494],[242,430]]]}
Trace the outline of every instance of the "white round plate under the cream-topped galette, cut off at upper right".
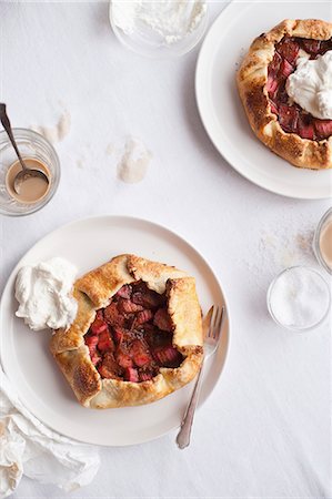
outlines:
{"label": "white round plate under the cream-topped galette, cut off at upper right", "polygon": [[283,19],[331,20],[331,2],[230,3],[212,24],[200,52],[195,91],[210,139],[224,159],[261,187],[290,197],[318,200],[332,193],[332,171],[296,169],[253,134],[235,84],[235,72],[252,40]]}

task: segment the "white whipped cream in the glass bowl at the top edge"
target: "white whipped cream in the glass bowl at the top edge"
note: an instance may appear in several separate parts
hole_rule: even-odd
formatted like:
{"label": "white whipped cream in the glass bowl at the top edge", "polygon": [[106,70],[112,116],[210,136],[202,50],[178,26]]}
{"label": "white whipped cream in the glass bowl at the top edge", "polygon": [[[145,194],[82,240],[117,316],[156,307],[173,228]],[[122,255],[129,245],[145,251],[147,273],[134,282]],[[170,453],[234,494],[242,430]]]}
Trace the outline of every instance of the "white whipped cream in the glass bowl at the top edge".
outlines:
{"label": "white whipped cream in the glass bowl at the top edge", "polygon": [[192,33],[205,12],[205,0],[112,0],[117,28],[127,34],[140,30],[140,27],[149,28],[167,44]]}

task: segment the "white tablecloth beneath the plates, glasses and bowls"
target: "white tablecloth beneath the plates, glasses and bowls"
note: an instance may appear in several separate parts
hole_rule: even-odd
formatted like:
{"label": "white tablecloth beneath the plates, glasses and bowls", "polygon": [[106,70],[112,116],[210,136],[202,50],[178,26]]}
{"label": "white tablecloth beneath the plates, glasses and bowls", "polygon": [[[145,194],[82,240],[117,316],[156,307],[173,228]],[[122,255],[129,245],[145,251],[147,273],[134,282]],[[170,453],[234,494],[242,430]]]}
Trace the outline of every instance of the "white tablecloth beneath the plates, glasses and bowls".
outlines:
{"label": "white tablecloth beneath the plates, glasses and bowls", "polygon": [[[222,8],[211,3],[211,18]],[[279,8],[286,17],[286,2]],[[220,157],[197,112],[197,51],[174,61],[128,52],[112,35],[107,2],[0,3],[0,23],[1,100],[12,124],[52,125],[59,101],[72,118],[57,144],[62,179],[54,198],[29,217],[1,218],[1,289],[29,247],[63,223],[137,215],[203,253],[233,319],[228,365],[197,415],[191,447],[179,451],[172,434],[101,449],[94,482],[70,497],[330,497],[329,327],[299,336],[274,325],[265,307],[276,272],[315,266],[308,243],[329,202],[264,192]],[[128,134],[153,153],[135,185],[117,180],[117,157],[105,153]],[[62,496],[24,479],[12,497]]]}

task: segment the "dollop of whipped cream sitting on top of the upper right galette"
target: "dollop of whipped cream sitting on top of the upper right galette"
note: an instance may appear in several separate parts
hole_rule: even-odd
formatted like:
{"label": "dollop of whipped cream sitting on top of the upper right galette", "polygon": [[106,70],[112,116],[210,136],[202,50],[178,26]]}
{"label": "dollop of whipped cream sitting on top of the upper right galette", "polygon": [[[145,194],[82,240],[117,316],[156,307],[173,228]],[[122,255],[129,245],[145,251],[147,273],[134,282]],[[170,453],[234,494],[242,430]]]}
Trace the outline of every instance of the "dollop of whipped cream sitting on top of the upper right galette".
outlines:
{"label": "dollop of whipped cream sitting on top of the upper right galette", "polygon": [[300,57],[286,81],[289,96],[321,120],[332,120],[332,50],[314,60]]}

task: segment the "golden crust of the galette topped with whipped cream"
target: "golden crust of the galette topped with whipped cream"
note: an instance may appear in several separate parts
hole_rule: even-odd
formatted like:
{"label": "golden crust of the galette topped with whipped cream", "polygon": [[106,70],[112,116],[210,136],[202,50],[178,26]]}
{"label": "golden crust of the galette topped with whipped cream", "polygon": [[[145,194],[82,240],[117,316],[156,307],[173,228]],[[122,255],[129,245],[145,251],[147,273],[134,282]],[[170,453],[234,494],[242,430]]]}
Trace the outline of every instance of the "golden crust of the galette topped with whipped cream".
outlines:
{"label": "golden crust of the galette topped with whipped cream", "polygon": [[332,136],[321,141],[302,139],[286,133],[276,114],[271,111],[266,81],[268,67],[275,52],[275,43],[284,35],[313,40],[332,38],[332,23],[306,19],[286,19],[251,44],[238,73],[237,83],[242,104],[255,135],[274,153],[294,166],[312,170],[332,167]]}

